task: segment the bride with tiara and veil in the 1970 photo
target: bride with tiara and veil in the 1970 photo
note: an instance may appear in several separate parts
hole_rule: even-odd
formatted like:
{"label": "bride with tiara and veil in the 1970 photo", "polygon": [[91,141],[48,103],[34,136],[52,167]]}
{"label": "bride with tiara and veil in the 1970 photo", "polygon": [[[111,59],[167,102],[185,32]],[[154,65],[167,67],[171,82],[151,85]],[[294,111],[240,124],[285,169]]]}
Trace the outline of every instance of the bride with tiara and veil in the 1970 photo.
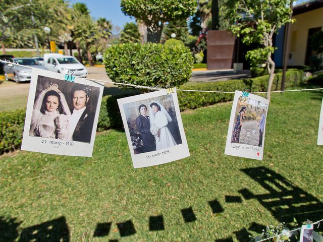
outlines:
{"label": "bride with tiara and veil in the 1970 photo", "polygon": [[29,135],[42,138],[71,140],[69,119],[71,111],[57,84],[50,83],[34,103]]}

